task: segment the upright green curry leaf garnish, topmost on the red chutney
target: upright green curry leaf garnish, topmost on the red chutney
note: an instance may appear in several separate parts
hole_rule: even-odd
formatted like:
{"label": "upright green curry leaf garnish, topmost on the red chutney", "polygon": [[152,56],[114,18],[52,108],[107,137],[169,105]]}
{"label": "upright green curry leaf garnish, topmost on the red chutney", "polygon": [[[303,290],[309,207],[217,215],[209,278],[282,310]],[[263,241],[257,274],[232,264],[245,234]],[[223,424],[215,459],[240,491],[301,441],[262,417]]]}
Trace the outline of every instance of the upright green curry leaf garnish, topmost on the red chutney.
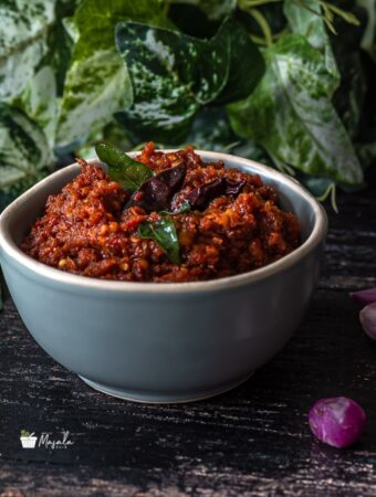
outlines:
{"label": "upright green curry leaf garnish, topmost on the red chutney", "polygon": [[132,193],[154,176],[153,169],[130,159],[124,151],[106,144],[95,146],[98,158],[108,166],[111,179]]}

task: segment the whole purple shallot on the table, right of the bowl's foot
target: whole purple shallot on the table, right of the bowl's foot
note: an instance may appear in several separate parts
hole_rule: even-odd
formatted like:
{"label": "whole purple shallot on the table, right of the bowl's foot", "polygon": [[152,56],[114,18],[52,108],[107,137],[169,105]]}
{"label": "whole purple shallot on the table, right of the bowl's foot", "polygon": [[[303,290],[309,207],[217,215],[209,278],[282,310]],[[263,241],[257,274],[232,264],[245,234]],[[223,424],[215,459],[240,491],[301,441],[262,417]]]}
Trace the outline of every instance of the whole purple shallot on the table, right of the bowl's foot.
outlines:
{"label": "whole purple shallot on the table, right of the bowl's foot", "polygon": [[352,399],[337,396],[321,399],[310,410],[309,423],[312,433],[333,447],[348,447],[363,433],[366,413]]}

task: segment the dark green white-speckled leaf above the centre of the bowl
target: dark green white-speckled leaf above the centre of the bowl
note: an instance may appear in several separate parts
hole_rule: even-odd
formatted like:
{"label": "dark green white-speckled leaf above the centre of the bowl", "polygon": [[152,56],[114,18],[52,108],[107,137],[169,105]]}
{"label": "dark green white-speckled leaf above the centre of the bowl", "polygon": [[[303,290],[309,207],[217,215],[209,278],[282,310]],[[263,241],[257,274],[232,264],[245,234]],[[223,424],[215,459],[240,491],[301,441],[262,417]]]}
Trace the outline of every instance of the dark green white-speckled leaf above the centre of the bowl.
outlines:
{"label": "dark green white-speckled leaf above the centre of the bowl", "polygon": [[134,89],[134,105],[123,121],[142,139],[181,141],[197,110],[227,83],[227,32],[220,30],[206,41],[127,22],[117,24],[116,43]]}

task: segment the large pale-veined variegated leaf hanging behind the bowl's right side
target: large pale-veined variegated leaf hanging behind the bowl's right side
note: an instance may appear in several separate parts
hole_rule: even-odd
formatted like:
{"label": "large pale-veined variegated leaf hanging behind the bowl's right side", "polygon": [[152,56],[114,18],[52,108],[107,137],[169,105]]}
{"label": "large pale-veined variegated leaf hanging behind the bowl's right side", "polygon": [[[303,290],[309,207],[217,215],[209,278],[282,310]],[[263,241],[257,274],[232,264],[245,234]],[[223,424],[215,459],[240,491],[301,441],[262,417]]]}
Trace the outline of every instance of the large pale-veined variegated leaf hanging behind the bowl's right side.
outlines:
{"label": "large pale-veined variegated leaf hanging behind the bowl's right side", "polygon": [[234,130],[309,175],[361,183],[363,172],[331,97],[337,80],[302,35],[264,51],[267,73],[246,101],[229,106]]}

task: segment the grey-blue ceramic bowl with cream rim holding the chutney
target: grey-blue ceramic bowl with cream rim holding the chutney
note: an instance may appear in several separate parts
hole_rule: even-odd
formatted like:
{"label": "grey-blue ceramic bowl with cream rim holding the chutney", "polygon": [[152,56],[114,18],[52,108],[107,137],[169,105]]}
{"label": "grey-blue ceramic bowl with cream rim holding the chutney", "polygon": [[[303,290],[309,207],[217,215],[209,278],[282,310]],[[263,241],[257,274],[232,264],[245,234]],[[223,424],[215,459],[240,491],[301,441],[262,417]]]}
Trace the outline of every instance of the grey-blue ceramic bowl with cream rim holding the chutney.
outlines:
{"label": "grey-blue ceramic bowl with cream rim holding the chutney", "polygon": [[301,220],[301,246],[259,269],[198,283],[109,282],[49,267],[18,245],[46,198],[79,173],[77,163],[43,179],[1,214],[1,265],[24,325],[53,359],[102,392],[165,403],[232,389],[286,343],[317,284],[327,221],[316,200],[260,163],[198,154],[274,186],[282,208]]}

